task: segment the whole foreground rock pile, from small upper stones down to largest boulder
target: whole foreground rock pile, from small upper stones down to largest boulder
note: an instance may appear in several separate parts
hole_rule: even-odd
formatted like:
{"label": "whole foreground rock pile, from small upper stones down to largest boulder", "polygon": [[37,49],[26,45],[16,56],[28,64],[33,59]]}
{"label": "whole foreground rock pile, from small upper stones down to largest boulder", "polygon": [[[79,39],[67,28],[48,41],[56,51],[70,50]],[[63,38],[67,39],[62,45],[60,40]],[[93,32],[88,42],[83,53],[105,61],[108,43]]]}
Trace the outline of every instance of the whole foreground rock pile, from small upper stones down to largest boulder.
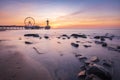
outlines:
{"label": "whole foreground rock pile, from small upper stones down to largest boulder", "polygon": [[97,64],[100,61],[97,56],[92,56],[88,59],[81,54],[75,53],[75,57],[83,63],[83,66],[81,66],[80,72],[77,75],[79,80],[112,80],[111,73],[103,67],[112,67],[110,61],[104,60],[103,66],[101,66]]}

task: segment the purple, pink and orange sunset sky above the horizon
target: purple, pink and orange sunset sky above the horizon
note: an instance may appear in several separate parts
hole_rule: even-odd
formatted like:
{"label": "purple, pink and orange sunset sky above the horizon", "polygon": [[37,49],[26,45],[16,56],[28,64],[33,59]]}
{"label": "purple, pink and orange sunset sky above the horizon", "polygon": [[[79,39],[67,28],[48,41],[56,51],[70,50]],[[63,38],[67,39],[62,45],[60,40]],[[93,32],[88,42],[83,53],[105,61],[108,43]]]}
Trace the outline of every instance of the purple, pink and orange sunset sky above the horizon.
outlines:
{"label": "purple, pink and orange sunset sky above the horizon", "polygon": [[24,25],[28,16],[52,28],[120,28],[120,0],[0,0],[0,25]]}

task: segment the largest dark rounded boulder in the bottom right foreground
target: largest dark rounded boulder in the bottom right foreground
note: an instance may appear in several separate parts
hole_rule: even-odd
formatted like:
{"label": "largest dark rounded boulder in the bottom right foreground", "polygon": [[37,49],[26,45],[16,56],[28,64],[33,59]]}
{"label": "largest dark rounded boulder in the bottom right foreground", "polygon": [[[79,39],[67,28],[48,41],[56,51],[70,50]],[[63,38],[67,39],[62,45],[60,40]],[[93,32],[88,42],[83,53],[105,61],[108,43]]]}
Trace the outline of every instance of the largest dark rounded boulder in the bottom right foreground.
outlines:
{"label": "largest dark rounded boulder in the bottom right foreground", "polygon": [[108,70],[106,70],[104,67],[97,64],[90,66],[86,72],[88,75],[94,74],[100,77],[102,80],[112,80],[110,72],[108,72]]}

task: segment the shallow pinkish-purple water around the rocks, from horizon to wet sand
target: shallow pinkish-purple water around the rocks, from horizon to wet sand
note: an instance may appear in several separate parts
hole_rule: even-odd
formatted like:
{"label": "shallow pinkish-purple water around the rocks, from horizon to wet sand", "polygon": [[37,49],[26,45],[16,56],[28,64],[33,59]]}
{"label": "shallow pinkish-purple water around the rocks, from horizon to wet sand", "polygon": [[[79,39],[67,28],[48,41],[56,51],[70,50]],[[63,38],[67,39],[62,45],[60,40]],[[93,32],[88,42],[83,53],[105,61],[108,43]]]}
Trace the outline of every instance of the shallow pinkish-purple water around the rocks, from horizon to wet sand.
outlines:
{"label": "shallow pinkish-purple water around the rocks, from horizon to wet sand", "polygon": [[[24,34],[35,33],[39,34],[42,39],[34,37],[24,37]],[[68,36],[77,33],[87,35],[85,38],[70,38],[58,39],[62,34]],[[19,51],[24,56],[27,56],[31,65],[34,63],[42,64],[42,66],[50,73],[53,80],[78,80],[77,74],[80,71],[80,66],[83,65],[74,53],[79,53],[87,58],[98,56],[102,65],[102,60],[111,60],[114,62],[112,68],[107,68],[113,80],[119,80],[120,77],[120,52],[109,50],[99,44],[95,44],[93,37],[95,35],[114,35],[113,40],[106,39],[108,46],[116,47],[120,45],[120,30],[98,30],[98,29],[54,29],[54,30],[8,30],[0,32],[0,44],[7,46],[9,51]],[[47,35],[50,38],[45,39]],[[30,41],[33,44],[25,44],[25,41]],[[79,47],[71,46],[72,42],[80,41]],[[91,47],[84,47],[91,45]],[[41,54],[38,54],[35,47]],[[31,61],[32,60],[32,61]],[[39,68],[39,66],[37,67]]]}

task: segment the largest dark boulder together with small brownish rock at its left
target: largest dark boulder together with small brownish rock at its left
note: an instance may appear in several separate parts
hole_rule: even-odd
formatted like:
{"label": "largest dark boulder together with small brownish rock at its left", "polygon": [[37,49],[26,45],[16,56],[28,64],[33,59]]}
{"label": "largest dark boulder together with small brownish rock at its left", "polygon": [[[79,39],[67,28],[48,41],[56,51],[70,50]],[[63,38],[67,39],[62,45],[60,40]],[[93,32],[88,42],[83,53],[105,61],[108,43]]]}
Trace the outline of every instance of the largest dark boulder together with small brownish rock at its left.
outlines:
{"label": "largest dark boulder together with small brownish rock at its left", "polygon": [[112,80],[110,72],[97,64],[82,66],[78,78],[79,80]]}

